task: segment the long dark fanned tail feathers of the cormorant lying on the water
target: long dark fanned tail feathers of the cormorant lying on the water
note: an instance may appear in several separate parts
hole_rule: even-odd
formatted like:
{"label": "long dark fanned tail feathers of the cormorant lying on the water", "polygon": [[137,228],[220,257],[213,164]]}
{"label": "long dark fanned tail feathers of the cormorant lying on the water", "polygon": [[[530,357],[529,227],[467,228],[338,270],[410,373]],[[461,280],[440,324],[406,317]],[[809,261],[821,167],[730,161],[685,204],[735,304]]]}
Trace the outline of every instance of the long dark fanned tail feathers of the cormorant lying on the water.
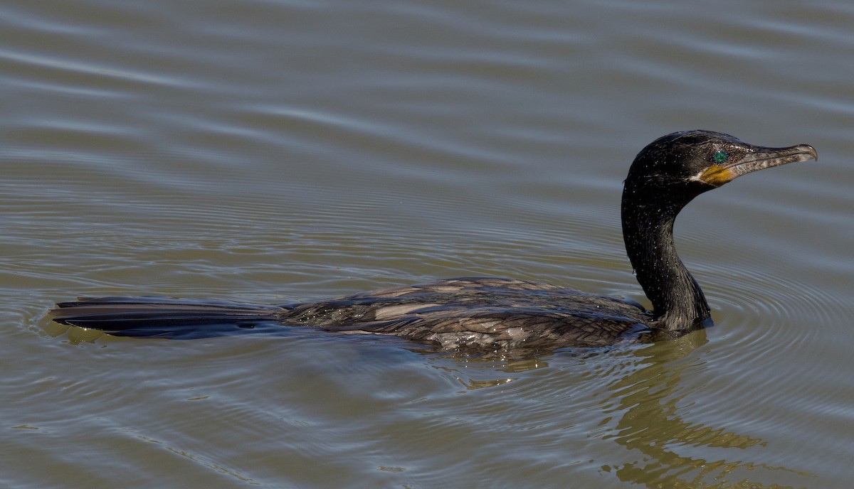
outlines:
{"label": "long dark fanned tail feathers of the cormorant lying on the water", "polygon": [[81,297],[56,304],[56,323],[101,329],[116,336],[190,339],[278,326],[284,307],[226,300],[164,297]]}

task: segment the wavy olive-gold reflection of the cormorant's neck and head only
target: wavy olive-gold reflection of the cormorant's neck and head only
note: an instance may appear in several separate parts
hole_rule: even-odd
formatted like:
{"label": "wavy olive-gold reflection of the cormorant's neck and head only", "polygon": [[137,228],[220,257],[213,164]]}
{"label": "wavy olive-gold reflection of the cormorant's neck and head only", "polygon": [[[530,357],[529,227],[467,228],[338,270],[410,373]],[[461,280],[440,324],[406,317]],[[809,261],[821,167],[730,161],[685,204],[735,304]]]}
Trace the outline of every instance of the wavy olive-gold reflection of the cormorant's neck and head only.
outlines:
{"label": "wavy olive-gold reflection of the cormorant's neck and head only", "polygon": [[[611,397],[601,406],[607,412],[622,412],[613,434],[605,436],[629,450],[639,451],[637,462],[603,465],[603,470],[617,474],[620,480],[646,487],[782,487],[763,485],[745,471],[758,469],[788,470],[773,463],[741,462],[743,453],[721,451],[721,459],[681,455],[689,447],[745,449],[763,445],[747,434],[735,434],[725,428],[706,426],[703,422],[682,419],[680,407],[688,393],[681,387],[681,372],[690,364],[676,363],[697,346],[705,343],[700,330],[673,342],[661,342],[636,351],[643,358],[640,368],[615,381]],[[693,451],[696,452],[696,451]],[[717,451],[715,451],[717,455]],[[730,462],[730,460],[739,460]],[[734,478],[745,477],[742,480]],[[762,479],[764,474],[757,474]]]}

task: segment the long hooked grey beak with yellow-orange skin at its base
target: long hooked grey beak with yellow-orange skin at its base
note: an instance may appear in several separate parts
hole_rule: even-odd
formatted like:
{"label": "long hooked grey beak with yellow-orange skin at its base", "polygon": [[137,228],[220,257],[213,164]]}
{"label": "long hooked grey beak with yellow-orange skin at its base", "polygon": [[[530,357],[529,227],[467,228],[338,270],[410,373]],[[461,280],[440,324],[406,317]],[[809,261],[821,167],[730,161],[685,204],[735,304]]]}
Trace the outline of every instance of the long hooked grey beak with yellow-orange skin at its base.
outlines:
{"label": "long hooked grey beak with yellow-orange skin at its base", "polygon": [[816,148],[813,148],[809,144],[798,144],[798,146],[790,146],[788,148],[756,147],[745,154],[740,160],[734,160],[722,165],[715,164],[706,168],[696,178],[703,183],[720,187],[722,184],[731,182],[735,178],[739,178],[747,173],[806,160],[818,161]]}

